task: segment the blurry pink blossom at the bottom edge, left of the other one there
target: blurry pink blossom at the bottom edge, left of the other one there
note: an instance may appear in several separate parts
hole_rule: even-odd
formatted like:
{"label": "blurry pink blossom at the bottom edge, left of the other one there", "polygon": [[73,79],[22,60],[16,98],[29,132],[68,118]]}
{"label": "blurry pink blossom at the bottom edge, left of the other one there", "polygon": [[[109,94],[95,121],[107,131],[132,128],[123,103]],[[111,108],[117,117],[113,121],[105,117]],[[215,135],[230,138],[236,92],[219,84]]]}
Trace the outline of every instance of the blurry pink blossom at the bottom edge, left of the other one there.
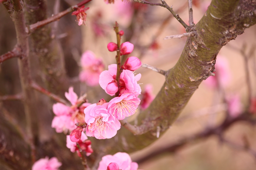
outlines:
{"label": "blurry pink blossom at the bottom edge, left of the other one there", "polygon": [[61,165],[62,163],[56,157],[49,159],[46,156],[36,161],[32,166],[32,170],[58,170]]}

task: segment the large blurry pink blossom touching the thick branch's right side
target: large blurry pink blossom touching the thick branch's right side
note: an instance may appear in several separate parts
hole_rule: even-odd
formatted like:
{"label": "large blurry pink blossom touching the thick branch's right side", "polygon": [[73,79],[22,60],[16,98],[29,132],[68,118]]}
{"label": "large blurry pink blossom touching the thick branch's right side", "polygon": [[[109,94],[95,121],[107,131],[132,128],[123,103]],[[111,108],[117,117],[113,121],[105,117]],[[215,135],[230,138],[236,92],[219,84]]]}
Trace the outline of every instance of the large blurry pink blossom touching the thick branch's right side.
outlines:
{"label": "large blurry pink blossom touching the thick branch's right side", "polygon": [[208,87],[217,88],[220,86],[224,88],[228,85],[231,79],[231,73],[229,70],[228,60],[221,55],[217,56],[215,64],[215,76],[208,77],[204,82]]}

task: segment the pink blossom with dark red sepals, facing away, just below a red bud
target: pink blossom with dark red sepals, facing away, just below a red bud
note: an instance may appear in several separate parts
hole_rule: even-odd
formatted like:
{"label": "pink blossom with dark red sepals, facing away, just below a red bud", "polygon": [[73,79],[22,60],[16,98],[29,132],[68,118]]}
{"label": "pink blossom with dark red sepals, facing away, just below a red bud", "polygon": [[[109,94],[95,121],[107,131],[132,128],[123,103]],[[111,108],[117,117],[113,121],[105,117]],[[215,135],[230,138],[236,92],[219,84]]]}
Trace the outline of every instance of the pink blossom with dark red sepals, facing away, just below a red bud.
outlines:
{"label": "pink blossom with dark red sepals, facing away, just below a red bud", "polygon": [[72,142],[70,140],[70,136],[67,135],[67,148],[70,149],[71,152],[77,152],[78,156],[81,157],[81,154],[79,152],[79,148],[77,147],[77,143],[79,144],[80,148],[86,152],[86,156],[91,155],[91,153],[93,152],[92,148],[91,148],[91,141],[87,140],[87,136],[84,132],[82,132],[81,134],[81,139],[78,142]]}

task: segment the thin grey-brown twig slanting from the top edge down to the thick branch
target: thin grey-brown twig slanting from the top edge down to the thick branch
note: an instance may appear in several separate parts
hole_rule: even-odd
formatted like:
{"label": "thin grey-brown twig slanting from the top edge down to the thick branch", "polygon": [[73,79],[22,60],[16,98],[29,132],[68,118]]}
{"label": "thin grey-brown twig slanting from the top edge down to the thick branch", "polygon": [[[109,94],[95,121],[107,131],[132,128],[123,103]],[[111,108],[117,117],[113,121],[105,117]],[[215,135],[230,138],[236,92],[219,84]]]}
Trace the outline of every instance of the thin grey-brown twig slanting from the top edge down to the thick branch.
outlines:
{"label": "thin grey-brown twig slanting from the top edge down to the thick branch", "polygon": [[164,0],[161,0],[162,4],[160,3],[151,3],[151,2],[147,2],[145,0],[133,0],[134,2],[138,2],[138,3],[142,3],[142,4],[149,4],[149,5],[157,5],[157,6],[162,6],[166,9],[168,9],[172,14],[173,16],[181,23],[181,25],[187,29],[189,26],[179,17],[179,14],[176,14],[173,10],[173,7],[169,7],[169,5],[164,1]]}

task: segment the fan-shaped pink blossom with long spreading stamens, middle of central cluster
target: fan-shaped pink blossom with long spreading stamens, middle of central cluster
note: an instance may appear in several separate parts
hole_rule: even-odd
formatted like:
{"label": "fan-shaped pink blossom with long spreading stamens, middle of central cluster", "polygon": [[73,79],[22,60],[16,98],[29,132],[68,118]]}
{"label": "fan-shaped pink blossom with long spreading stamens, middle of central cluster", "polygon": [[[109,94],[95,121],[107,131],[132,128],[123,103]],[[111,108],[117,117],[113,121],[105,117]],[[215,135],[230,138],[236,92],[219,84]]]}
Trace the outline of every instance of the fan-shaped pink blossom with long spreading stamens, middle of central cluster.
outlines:
{"label": "fan-shaped pink blossom with long spreading stamens, middle of central cluster", "polygon": [[133,115],[140,104],[140,99],[133,93],[125,93],[110,100],[108,111],[118,120]]}

